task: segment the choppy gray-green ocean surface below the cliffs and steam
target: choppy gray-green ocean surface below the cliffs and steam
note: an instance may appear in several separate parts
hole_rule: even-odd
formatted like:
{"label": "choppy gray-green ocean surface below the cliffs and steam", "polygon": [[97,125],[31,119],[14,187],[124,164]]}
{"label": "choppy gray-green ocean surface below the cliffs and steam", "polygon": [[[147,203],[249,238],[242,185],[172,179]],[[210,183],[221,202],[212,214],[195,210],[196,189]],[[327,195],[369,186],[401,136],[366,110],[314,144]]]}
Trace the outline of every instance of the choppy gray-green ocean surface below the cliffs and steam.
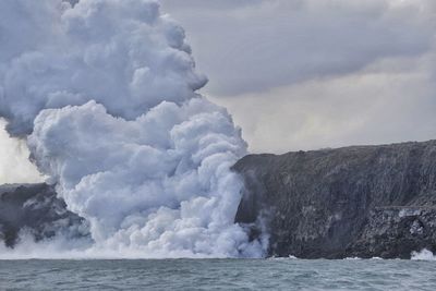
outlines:
{"label": "choppy gray-green ocean surface below the cliffs and steam", "polygon": [[0,290],[436,290],[436,262],[0,260]]}

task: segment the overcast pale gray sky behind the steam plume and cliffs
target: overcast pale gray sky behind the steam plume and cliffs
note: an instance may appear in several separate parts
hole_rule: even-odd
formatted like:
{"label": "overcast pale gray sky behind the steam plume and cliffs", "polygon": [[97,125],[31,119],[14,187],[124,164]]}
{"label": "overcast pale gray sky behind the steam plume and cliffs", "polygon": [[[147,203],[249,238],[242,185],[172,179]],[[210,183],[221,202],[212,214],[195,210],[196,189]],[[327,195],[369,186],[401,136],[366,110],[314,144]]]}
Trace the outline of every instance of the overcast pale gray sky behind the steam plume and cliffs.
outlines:
{"label": "overcast pale gray sky behind the steam plume and cliffs", "polygon": [[[436,133],[434,0],[161,0],[253,153]],[[37,181],[0,132],[0,183]]]}

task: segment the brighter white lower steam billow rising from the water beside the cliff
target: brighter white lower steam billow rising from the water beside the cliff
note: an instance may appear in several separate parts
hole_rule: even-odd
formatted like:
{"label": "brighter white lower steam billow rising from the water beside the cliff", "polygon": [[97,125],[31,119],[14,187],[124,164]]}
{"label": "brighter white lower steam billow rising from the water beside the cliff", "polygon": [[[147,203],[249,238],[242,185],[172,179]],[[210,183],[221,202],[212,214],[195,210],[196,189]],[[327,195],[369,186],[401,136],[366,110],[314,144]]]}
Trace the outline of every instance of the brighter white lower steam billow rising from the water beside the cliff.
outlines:
{"label": "brighter white lower steam billow rising from the water beside the cliff", "polygon": [[233,226],[242,184],[229,171],[245,144],[204,99],[162,102],[135,121],[94,101],[44,110],[28,144],[98,246],[238,256],[246,242]]}

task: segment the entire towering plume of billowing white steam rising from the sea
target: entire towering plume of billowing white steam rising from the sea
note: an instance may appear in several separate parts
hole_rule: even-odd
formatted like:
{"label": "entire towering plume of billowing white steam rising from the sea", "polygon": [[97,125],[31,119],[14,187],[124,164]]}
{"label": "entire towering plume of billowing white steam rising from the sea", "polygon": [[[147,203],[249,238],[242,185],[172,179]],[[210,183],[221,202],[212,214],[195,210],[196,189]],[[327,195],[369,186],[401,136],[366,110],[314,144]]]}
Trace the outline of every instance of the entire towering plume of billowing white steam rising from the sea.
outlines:
{"label": "entire towering plume of billowing white steam rising from the sea", "polygon": [[0,114],[89,222],[86,252],[262,255],[233,223],[246,145],[156,1],[2,0],[0,44]]}

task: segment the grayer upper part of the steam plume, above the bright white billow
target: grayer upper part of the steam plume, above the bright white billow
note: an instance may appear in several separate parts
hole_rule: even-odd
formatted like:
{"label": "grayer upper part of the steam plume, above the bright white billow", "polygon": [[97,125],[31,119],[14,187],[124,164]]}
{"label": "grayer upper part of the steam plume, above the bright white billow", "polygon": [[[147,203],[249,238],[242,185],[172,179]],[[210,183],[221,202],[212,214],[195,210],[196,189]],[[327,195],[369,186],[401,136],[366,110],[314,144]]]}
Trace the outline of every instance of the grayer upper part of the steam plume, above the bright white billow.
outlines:
{"label": "grayer upper part of the steam plume, above the bright white billow", "polygon": [[[0,52],[0,108],[11,134],[31,133],[45,108],[96,100],[134,119],[162,100],[187,100],[206,83],[193,70],[183,29],[156,1],[85,0],[71,9],[60,0],[5,0],[0,10],[13,11],[1,25],[10,45]],[[34,13],[36,20],[20,16]],[[24,22],[19,29],[14,19]],[[20,34],[31,39],[14,41]]]}

